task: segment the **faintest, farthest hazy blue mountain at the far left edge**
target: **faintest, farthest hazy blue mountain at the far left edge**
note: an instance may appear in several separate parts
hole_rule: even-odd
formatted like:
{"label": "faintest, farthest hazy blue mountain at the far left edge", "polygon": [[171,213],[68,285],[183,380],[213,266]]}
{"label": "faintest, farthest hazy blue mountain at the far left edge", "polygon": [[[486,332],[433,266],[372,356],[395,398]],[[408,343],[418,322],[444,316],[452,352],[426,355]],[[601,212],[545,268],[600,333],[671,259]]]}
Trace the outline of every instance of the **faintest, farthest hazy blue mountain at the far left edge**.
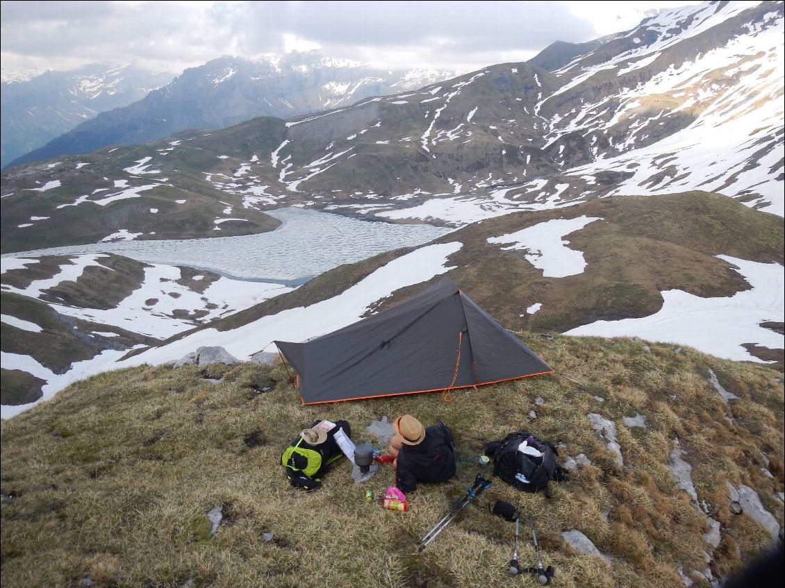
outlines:
{"label": "faintest, farthest hazy blue mountain at the far left edge", "polygon": [[169,74],[92,64],[73,71],[3,72],[0,167],[100,112],[141,100]]}

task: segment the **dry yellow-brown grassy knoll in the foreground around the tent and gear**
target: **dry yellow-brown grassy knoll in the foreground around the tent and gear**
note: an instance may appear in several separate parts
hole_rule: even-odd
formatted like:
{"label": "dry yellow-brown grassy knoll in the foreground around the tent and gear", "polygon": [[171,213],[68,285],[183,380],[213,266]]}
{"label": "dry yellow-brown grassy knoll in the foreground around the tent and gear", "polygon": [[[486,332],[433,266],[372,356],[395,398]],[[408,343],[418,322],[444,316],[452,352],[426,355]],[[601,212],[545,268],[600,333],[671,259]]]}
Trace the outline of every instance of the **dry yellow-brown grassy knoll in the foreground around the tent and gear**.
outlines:
{"label": "dry yellow-brown grassy knoll in the foreground around the tent and gear", "polygon": [[[703,569],[704,517],[677,489],[668,463],[679,437],[699,498],[722,524],[714,572],[739,568],[769,543],[747,516],[729,510],[725,481],[756,488],[783,520],[783,384],[761,365],[630,339],[524,340],[557,370],[586,383],[542,376],[440,394],[302,407],[282,365],[107,372],[2,423],[2,584],[74,586],[520,586],[509,576],[513,526],[487,513],[488,499],[520,500],[535,514],[545,563],[559,586],[681,586],[677,565]],[[740,400],[725,404],[707,381],[717,372]],[[265,394],[268,377],[278,384]],[[545,404],[534,406],[535,397]],[[595,397],[605,398],[604,402]],[[538,419],[528,412],[536,408]],[[324,487],[290,488],[279,455],[313,419],[348,419],[355,441],[373,440],[371,419],[411,412],[453,426],[460,456],[518,428],[564,442],[593,460],[553,499],[495,481],[425,552],[418,538],[465,492],[477,472],[463,464],[445,485],[410,496],[408,513],[363,500],[392,483],[384,469],[355,485],[341,460]],[[591,430],[588,412],[619,427],[625,467]],[[627,429],[640,412],[648,429]],[[768,458],[764,458],[765,452]],[[767,467],[776,479],[761,474]],[[228,521],[210,538],[206,512]],[[603,513],[608,511],[606,521]],[[575,554],[560,532],[577,528],[614,561]],[[262,535],[272,532],[265,543]],[[533,564],[524,538],[519,559]]]}

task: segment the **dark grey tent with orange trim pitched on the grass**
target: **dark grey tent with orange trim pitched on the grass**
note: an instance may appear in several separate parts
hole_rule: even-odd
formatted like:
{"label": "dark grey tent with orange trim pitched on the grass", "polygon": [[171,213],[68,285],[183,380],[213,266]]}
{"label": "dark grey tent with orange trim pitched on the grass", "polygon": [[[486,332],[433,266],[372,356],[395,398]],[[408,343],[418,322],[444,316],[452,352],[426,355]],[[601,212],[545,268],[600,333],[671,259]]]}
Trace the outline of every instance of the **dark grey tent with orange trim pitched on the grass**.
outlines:
{"label": "dark grey tent with orange trim pitched on the grass", "polygon": [[482,386],[551,373],[451,280],[305,343],[276,341],[314,405]]}

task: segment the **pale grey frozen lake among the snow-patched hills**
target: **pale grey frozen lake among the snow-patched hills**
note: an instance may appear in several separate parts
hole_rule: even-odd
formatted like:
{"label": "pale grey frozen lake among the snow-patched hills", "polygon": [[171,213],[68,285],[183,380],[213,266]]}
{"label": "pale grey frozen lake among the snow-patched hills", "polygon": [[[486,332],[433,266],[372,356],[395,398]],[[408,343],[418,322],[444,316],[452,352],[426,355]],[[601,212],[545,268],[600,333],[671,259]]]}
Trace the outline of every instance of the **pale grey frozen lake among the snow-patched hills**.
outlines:
{"label": "pale grey frozen lake among the snow-patched hills", "polygon": [[267,233],[239,237],[65,245],[3,257],[108,252],[139,261],[199,267],[234,278],[300,284],[342,263],[422,245],[451,230],[357,220],[299,208],[265,213],[283,224]]}

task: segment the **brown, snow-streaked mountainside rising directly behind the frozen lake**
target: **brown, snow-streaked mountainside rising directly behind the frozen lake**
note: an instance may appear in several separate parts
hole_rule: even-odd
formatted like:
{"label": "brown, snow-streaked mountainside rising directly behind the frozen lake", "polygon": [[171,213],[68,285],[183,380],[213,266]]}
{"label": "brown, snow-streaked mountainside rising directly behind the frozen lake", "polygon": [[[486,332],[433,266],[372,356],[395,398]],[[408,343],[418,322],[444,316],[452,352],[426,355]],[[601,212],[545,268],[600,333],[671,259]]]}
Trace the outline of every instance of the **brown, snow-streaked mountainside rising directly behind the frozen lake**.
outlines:
{"label": "brown, snow-streaked mountainside rising directly behind the frozen lake", "polygon": [[[285,205],[458,226],[610,194],[690,190],[783,216],[782,38],[781,3],[707,2],[644,20],[553,72],[500,64],[287,121],[17,167],[2,176],[2,251],[119,230],[211,236],[224,201],[239,204],[238,227]],[[235,75],[200,79],[209,94],[231,89]],[[177,199],[214,204],[193,209],[198,223],[166,228],[148,213]]]}

